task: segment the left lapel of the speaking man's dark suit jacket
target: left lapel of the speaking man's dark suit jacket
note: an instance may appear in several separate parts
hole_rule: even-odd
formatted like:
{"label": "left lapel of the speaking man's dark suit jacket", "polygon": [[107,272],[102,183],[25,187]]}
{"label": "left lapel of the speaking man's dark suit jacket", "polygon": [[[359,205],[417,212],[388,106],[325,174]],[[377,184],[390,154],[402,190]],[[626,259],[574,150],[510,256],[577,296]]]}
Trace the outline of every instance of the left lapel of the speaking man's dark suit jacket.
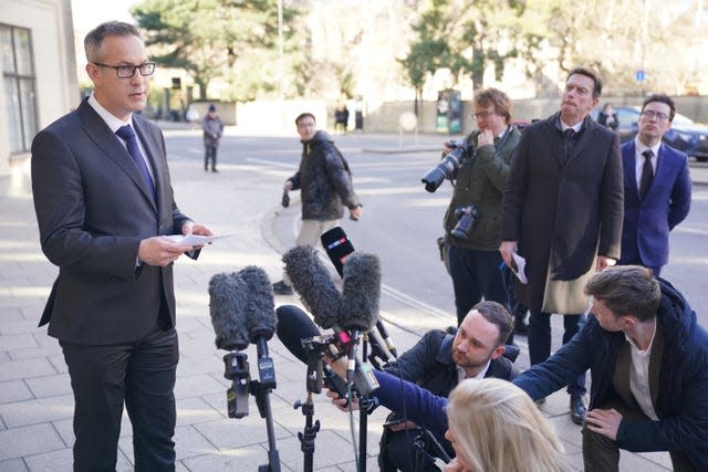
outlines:
{"label": "left lapel of the speaking man's dark suit jacket", "polygon": [[123,169],[131,177],[133,182],[143,192],[145,199],[156,208],[150,190],[145,186],[139,169],[133,161],[127,149],[118,140],[119,138],[111,132],[108,125],[106,125],[106,123],[86,101],[82,102],[79,106],[79,115],[81,117],[82,126],[86,130],[88,137],[96,144],[96,146],[103,149],[105,155],[113,160],[116,166]]}

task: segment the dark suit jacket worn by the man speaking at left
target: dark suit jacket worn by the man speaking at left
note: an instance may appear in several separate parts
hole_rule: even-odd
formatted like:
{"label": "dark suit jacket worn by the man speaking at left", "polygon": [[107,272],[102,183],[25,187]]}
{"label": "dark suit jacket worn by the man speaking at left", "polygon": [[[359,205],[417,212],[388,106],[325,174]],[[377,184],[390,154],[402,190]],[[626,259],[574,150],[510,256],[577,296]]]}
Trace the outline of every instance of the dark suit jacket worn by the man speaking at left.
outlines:
{"label": "dark suit jacket worn by the man speaking at left", "polygon": [[32,191],[42,251],[59,266],[40,326],[75,344],[138,339],[160,310],[175,324],[173,268],[136,268],[140,240],[181,233],[158,127],[133,115],[155,177],[157,202],[119,138],[88,105],[32,143]]}

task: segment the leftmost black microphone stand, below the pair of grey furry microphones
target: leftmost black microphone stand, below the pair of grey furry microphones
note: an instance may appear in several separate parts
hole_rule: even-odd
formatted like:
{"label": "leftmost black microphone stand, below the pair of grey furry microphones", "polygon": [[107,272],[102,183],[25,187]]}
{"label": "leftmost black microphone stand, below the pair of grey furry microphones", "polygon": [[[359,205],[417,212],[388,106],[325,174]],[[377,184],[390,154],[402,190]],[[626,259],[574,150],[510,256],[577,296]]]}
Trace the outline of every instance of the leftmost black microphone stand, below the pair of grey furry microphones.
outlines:
{"label": "leftmost black microphone stand, below the pair of grey furry microphones", "polygon": [[259,380],[251,380],[251,394],[256,397],[256,405],[261,418],[266,419],[268,430],[268,464],[259,465],[258,472],[280,472],[280,454],[275,448],[275,431],[273,415],[270,408],[270,391],[275,388],[275,369],[273,359],[268,356],[266,338],[260,336],[256,345],[258,350]]}

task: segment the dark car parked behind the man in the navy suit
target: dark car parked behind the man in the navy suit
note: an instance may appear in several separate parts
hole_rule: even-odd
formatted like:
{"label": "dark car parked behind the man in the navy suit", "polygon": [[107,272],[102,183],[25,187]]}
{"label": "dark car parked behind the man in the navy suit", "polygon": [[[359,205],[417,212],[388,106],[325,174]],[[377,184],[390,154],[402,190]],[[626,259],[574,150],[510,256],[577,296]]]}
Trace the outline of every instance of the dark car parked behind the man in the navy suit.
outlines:
{"label": "dark car parked behind the man in the navy suit", "polygon": [[[635,106],[614,106],[617,114],[617,133],[622,143],[634,139],[637,134],[637,120],[639,118],[641,108]],[[601,108],[593,108],[591,115],[593,119],[597,119]],[[664,135],[664,143],[683,150],[688,157],[696,158],[699,162],[708,160],[708,125],[695,123],[693,119],[676,114],[671,122],[671,127]]]}

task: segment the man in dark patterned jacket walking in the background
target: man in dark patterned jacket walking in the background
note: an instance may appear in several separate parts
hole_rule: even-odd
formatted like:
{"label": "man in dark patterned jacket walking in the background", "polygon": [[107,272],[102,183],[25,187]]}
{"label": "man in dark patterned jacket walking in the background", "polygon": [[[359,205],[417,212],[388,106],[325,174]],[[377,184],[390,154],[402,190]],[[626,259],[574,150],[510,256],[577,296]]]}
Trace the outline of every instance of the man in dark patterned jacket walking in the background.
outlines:
{"label": "man in dark patterned jacket walking in the background", "polygon": [[[344,216],[342,207],[350,211],[352,220],[358,220],[364,210],[352,187],[348,164],[330,140],[330,136],[317,130],[314,115],[302,113],[295,118],[298,134],[302,141],[302,159],[298,171],[283,185],[283,207],[290,202],[288,192],[300,189],[302,201],[302,224],[295,245],[320,244],[320,235],[340,225]],[[294,293],[283,273],[283,280],[273,284],[280,295]]]}

